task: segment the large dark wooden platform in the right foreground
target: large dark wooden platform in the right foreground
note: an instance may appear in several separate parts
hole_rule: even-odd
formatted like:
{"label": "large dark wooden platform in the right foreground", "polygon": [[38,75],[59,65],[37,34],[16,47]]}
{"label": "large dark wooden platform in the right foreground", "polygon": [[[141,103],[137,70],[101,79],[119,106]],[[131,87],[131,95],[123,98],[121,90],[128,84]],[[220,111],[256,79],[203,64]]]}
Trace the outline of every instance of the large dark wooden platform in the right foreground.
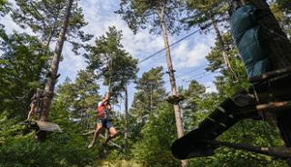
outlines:
{"label": "large dark wooden platform in the right foreground", "polygon": [[[277,70],[250,79],[247,92],[227,98],[198,127],[172,145],[178,159],[212,155],[216,148],[227,146],[278,158],[290,158],[289,148],[261,148],[241,143],[218,142],[216,138],[244,119],[266,120],[264,113],[284,117],[291,111],[291,68]],[[289,118],[288,118],[289,119]],[[290,138],[290,134],[285,134]]]}

